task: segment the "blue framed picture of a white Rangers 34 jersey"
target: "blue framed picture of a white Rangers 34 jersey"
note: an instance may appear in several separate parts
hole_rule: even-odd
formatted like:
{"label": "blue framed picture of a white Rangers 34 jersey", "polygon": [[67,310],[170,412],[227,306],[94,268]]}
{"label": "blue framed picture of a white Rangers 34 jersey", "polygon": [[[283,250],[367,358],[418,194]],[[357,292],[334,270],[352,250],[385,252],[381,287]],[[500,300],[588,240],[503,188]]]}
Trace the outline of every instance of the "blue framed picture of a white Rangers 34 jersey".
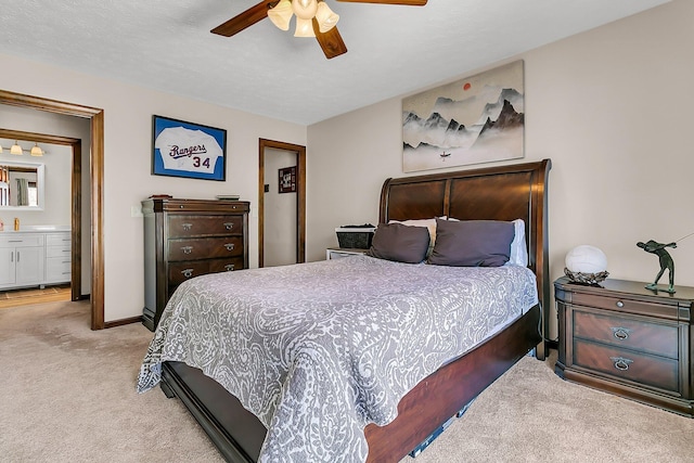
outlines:
{"label": "blue framed picture of a white Rangers 34 jersey", "polygon": [[227,130],[153,116],[152,173],[223,181]]}

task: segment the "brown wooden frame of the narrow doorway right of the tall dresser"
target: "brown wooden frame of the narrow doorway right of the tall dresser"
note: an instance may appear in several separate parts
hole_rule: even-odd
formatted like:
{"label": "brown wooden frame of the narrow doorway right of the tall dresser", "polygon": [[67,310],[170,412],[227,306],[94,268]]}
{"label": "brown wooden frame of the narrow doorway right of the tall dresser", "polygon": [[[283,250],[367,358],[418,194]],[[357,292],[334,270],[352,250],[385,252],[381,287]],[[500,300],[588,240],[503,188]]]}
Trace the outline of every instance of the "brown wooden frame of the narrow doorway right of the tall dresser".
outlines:
{"label": "brown wooden frame of the narrow doorway right of the tall dresser", "polygon": [[296,261],[306,261],[306,146],[275,140],[258,140],[258,267],[265,267],[265,150],[296,153]]}

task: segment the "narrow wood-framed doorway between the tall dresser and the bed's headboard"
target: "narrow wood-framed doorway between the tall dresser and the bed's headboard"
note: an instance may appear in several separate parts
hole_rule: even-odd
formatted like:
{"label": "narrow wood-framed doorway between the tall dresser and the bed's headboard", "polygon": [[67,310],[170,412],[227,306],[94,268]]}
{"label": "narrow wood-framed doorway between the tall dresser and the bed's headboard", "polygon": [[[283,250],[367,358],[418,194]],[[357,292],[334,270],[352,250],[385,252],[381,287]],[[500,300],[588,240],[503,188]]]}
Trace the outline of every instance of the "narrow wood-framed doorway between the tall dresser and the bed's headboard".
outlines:
{"label": "narrow wood-framed doorway between the tall dresser and the bed's headboard", "polygon": [[[270,265],[281,263],[301,263],[306,261],[306,146],[284,143],[273,140],[259,140],[258,147],[258,267],[266,267]],[[278,166],[277,159],[281,159],[282,169]],[[285,165],[286,164],[286,165]],[[267,167],[267,168],[266,168]],[[281,171],[280,171],[281,170]],[[284,185],[280,179],[280,173],[285,179]],[[288,176],[288,177],[287,177]],[[271,183],[272,182],[272,183]],[[266,185],[268,185],[266,188]],[[274,187],[274,189],[272,188]],[[266,191],[268,190],[268,191]],[[279,196],[285,196],[286,194],[279,194],[279,190],[283,190],[288,193],[292,200],[282,200]],[[266,195],[274,194],[272,201],[268,196],[268,208],[266,209]],[[291,204],[291,205],[290,205]],[[295,206],[294,206],[295,204]],[[282,230],[275,230],[280,227],[277,222],[271,220],[266,213],[277,215],[275,207],[291,207],[293,214],[283,221],[288,221],[290,233],[286,233],[291,239],[288,242],[282,245],[288,249],[290,255],[294,252],[295,259],[284,257],[278,259],[277,255],[267,256],[266,259],[266,236],[277,236],[282,233]],[[287,216],[286,211],[282,216]],[[293,217],[292,217],[293,216]],[[266,226],[268,230],[266,230]],[[273,229],[270,229],[272,227]],[[284,226],[282,226],[284,227]],[[266,233],[267,232],[267,233]],[[270,243],[268,243],[269,245]],[[271,247],[268,246],[268,249]],[[282,252],[285,254],[285,252]],[[287,260],[288,259],[288,260]]]}

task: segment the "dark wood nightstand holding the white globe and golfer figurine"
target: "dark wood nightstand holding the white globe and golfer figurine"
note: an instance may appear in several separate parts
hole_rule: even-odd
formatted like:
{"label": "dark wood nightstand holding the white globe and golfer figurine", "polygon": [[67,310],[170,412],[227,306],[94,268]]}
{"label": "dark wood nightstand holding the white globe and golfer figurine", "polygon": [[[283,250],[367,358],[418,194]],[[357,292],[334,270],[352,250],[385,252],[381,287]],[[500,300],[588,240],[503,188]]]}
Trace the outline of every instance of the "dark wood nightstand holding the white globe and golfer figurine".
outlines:
{"label": "dark wood nightstand holding the white globe and golfer figurine", "polygon": [[605,280],[554,282],[561,377],[694,416],[694,288]]}

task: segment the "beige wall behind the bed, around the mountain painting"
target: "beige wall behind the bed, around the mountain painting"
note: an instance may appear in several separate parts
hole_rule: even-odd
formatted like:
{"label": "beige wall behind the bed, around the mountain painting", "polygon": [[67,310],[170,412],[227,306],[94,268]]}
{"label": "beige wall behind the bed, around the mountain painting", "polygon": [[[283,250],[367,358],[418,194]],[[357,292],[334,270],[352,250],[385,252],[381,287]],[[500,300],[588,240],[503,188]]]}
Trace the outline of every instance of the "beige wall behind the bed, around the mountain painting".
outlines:
{"label": "beige wall behind the bed, around the mountain painting", "polygon": [[[592,244],[613,278],[648,282],[657,258],[635,243],[694,232],[693,17],[676,0],[507,60],[525,61],[524,160],[553,163],[553,279]],[[336,244],[336,226],[377,220],[383,180],[403,176],[400,114],[396,98],[308,128],[308,260]],[[676,283],[694,285],[694,236],[671,255]]]}

